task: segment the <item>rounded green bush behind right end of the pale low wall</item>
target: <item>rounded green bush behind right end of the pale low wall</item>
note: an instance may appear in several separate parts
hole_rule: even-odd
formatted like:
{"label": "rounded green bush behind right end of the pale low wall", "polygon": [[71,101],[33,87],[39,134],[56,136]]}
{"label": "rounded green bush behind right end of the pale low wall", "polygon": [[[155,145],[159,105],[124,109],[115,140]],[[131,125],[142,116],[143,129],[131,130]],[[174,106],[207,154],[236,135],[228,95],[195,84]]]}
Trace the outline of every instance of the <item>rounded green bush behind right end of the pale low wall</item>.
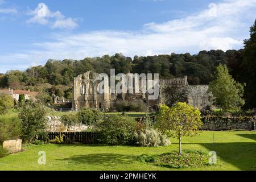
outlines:
{"label": "rounded green bush behind right end of the pale low wall", "polygon": [[83,109],[77,113],[77,117],[84,125],[95,125],[101,118],[99,110]]}

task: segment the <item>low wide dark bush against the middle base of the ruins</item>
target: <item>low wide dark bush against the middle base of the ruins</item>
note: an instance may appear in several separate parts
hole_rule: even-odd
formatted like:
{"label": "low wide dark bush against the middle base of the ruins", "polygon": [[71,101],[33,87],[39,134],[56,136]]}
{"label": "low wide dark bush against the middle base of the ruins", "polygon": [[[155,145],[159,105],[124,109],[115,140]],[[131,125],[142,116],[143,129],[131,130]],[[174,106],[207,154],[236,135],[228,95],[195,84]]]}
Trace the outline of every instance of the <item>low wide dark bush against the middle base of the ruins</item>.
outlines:
{"label": "low wide dark bush against the middle base of the ruins", "polygon": [[143,101],[116,101],[112,105],[111,110],[117,110],[118,112],[129,112],[129,111],[135,111],[135,112],[144,112],[146,111],[147,106]]}

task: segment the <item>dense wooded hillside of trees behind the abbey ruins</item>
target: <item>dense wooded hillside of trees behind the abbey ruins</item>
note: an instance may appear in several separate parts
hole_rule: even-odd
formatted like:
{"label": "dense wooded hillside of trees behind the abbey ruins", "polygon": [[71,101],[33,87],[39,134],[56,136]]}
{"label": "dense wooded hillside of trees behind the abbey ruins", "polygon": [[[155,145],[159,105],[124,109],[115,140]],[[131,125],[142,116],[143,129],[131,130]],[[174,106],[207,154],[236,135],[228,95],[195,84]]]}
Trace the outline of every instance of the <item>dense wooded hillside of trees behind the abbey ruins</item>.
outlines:
{"label": "dense wooded hillside of trees behind the abbey ruins", "polygon": [[108,73],[160,73],[160,78],[187,75],[189,84],[209,84],[214,79],[216,66],[228,64],[230,72],[237,78],[238,63],[243,50],[201,51],[197,55],[175,54],[159,56],[126,57],[121,53],[114,56],[86,57],[84,60],[48,60],[46,65],[31,67],[26,71],[8,71],[0,75],[1,88],[30,89],[55,93],[57,96],[72,98],[73,78],[92,70]]}

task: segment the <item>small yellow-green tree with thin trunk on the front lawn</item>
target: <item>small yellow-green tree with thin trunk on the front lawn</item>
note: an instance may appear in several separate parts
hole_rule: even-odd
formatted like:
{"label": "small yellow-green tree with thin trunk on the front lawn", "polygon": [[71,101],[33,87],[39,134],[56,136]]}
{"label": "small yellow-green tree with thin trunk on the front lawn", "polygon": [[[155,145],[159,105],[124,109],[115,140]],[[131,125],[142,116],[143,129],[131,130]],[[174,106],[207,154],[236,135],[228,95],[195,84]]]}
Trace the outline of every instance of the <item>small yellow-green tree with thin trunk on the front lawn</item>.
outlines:
{"label": "small yellow-green tree with thin trunk on the front lawn", "polygon": [[198,135],[203,125],[200,111],[185,102],[178,102],[173,107],[160,105],[160,112],[156,119],[156,127],[162,133],[179,139],[180,155],[182,154],[181,137]]}

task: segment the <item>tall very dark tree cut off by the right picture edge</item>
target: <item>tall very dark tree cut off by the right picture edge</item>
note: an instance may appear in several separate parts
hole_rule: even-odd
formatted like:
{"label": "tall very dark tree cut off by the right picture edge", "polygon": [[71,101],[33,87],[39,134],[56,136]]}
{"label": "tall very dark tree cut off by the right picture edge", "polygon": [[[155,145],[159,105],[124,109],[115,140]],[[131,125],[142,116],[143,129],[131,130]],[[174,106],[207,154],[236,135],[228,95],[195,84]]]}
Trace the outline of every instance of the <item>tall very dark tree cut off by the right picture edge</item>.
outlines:
{"label": "tall very dark tree cut off by the right picture edge", "polygon": [[242,60],[242,81],[246,82],[246,107],[256,107],[256,20],[250,28],[250,38],[245,40],[245,50]]}

